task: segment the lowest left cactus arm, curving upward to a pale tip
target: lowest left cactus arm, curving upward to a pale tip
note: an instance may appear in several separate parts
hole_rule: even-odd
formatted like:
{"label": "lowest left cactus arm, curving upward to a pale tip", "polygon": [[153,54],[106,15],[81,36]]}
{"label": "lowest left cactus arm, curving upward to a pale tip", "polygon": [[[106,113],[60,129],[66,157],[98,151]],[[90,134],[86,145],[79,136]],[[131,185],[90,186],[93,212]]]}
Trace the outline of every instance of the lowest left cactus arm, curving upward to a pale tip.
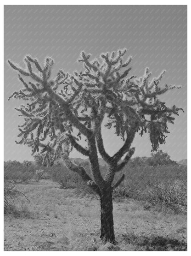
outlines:
{"label": "lowest left cactus arm, curving upward to a pale tip", "polygon": [[99,193],[99,187],[96,185],[96,183],[90,178],[90,176],[85,172],[84,167],[75,165],[72,161],[69,159],[69,151],[67,149],[68,144],[63,144],[63,154],[62,154],[62,160],[64,162],[64,165],[71,171],[78,173],[82,179],[89,185],[94,191]]}

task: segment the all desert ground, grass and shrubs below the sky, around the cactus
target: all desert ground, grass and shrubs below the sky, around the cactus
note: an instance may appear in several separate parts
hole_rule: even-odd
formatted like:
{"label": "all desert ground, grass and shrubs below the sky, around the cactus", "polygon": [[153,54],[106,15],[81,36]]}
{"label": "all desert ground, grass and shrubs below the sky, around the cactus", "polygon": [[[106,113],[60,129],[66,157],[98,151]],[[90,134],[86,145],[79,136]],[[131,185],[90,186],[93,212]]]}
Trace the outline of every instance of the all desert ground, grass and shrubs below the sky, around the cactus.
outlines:
{"label": "all desert ground, grass and shrubs below the sky, around the cactus", "polygon": [[[87,160],[72,161],[90,172]],[[117,243],[111,245],[99,239],[99,197],[80,175],[59,162],[36,161],[25,165],[34,176],[15,182],[6,172],[17,171],[18,162],[6,163],[4,196],[14,196],[8,207],[5,201],[5,250],[187,250],[187,166],[131,159],[123,170],[129,178],[113,191]],[[39,179],[36,170],[44,170]]]}

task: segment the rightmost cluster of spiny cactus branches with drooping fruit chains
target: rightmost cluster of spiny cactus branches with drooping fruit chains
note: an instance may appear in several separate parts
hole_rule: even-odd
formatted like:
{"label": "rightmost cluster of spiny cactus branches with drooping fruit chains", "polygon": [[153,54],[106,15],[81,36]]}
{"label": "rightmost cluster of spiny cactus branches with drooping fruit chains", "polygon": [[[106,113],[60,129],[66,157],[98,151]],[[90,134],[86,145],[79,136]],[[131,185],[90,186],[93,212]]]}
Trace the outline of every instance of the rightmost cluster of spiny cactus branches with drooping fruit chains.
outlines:
{"label": "rightmost cluster of spiny cactus branches with drooping fruit chains", "polygon": [[[179,115],[178,112],[180,110],[184,112],[182,108],[178,108],[175,105],[169,108],[165,102],[159,100],[158,95],[162,95],[170,89],[180,89],[180,86],[175,85],[165,85],[165,88],[160,88],[159,83],[164,73],[165,71],[150,82],[149,77],[151,73],[146,68],[143,77],[134,81],[133,94],[136,104],[139,106],[137,113],[140,116],[140,135],[142,136],[143,132],[149,131],[152,151],[157,151],[160,144],[166,143],[167,136],[165,136],[165,133],[169,133],[167,123],[174,124],[174,117],[172,115]],[[150,118],[146,118],[145,115],[149,115]]]}

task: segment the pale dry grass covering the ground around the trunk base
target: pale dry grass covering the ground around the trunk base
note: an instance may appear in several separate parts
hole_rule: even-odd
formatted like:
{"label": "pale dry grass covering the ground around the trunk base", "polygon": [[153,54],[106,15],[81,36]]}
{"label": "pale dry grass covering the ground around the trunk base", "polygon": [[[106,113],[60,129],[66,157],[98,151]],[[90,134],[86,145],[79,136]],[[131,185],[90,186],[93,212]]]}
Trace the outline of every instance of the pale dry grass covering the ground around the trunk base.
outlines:
{"label": "pale dry grass covering the ground around the trunk base", "polygon": [[[43,180],[19,185],[28,196],[27,214],[4,218],[4,250],[186,250],[185,214],[147,210],[139,202],[114,200],[117,244],[103,244],[96,196]],[[22,209],[21,209],[22,212]]]}

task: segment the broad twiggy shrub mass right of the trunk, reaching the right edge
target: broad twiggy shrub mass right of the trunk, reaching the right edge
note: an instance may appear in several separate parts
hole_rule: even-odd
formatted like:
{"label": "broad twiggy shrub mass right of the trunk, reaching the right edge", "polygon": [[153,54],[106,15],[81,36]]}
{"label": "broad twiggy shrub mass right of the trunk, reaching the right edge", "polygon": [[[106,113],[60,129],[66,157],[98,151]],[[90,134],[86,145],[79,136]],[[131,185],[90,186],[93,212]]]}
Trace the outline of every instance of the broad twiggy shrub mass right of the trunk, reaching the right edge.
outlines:
{"label": "broad twiggy shrub mass right of the trunk, reaching the right edge", "polygon": [[[178,165],[152,167],[145,164],[131,166],[125,172],[128,178],[118,187],[118,191],[125,191],[127,196],[148,202],[147,205],[158,206],[160,209],[168,208],[176,212],[186,210],[186,167]],[[125,172],[123,170],[123,173]]]}

